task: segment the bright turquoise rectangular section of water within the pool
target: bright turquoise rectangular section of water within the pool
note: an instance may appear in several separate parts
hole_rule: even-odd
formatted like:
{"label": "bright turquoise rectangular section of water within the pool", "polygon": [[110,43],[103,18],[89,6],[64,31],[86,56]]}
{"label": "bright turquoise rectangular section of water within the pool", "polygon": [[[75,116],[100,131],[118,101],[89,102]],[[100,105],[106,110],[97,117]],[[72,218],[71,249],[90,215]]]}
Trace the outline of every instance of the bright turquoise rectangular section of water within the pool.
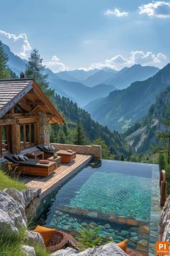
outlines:
{"label": "bright turquoise rectangular section of water within the pool", "polygon": [[96,171],[71,198],[69,206],[148,220],[150,184],[146,177]]}

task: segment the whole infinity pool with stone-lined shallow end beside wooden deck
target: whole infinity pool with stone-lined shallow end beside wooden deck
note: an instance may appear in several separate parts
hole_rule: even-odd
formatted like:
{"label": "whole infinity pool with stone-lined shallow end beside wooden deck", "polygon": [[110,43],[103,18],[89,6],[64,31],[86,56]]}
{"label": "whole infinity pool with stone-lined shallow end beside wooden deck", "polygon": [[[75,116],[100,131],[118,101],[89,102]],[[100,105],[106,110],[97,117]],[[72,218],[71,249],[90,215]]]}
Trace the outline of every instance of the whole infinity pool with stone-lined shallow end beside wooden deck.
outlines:
{"label": "whole infinity pool with stone-lined shallow end beside wooden deck", "polygon": [[157,165],[102,160],[63,184],[40,219],[71,234],[81,226],[99,226],[106,240],[128,239],[129,247],[154,254],[161,210],[158,179]]}

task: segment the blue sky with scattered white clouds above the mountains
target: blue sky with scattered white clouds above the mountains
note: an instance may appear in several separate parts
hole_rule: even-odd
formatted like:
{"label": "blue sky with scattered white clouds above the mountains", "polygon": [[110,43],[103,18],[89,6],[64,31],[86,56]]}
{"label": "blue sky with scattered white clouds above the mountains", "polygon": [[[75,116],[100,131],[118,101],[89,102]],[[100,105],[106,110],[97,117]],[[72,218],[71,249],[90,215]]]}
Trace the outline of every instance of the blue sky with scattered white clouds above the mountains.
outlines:
{"label": "blue sky with scattered white clouds above the mountains", "polygon": [[169,1],[8,0],[0,7],[0,40],[22,59],[37,48],[53,72],[164,67],[169,28]]}

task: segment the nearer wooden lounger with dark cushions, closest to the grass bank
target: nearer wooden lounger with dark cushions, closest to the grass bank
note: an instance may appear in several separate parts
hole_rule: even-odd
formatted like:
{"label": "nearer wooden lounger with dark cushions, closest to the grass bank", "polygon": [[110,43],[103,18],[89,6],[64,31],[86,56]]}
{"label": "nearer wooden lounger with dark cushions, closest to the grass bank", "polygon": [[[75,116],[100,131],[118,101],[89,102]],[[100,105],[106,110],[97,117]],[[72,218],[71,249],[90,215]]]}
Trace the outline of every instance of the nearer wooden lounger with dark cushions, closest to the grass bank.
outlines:
{"label": "nearer wooden lounger with dark cushions, closest to the grass bank", "polygon": [[42,161],[43,163],[39,163],[39,159],[28,158],[28,160],[25,161],[18,161],[16,160],[16,155],[14,154],[4,155],[4,158],[12,163],[19,164],[17,171],[22,172],[22,174],[33,176],[47,177],[57,167],[55,162],[46,161],[45,163],[45,161]]}

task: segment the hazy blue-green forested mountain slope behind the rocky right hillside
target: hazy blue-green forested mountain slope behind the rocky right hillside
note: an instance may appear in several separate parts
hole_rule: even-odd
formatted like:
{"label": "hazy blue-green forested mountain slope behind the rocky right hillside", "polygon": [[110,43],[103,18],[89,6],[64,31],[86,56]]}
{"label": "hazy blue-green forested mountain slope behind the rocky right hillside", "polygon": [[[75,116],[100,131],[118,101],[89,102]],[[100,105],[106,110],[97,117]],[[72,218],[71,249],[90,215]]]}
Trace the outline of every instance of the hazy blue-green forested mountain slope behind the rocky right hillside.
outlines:
{"label": "hazy blue-green forested mountain slope behind the rocky right hillside", "polygon": [[85,107],[92,118],[109,129],[125,131],[147,114],[156,95],[170,85],[170,64],[144,81],[133,82],[128,88],[115,90],[109,96]]}

